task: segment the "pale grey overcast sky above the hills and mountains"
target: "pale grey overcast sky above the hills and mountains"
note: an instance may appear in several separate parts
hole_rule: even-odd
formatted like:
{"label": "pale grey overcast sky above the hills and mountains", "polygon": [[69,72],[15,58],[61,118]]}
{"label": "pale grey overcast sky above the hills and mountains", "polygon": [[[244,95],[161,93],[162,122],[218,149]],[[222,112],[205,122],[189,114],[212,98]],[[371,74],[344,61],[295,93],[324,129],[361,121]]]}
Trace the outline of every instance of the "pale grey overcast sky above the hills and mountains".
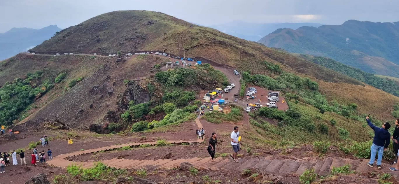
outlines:
{"label": "pale grey overcast sky above the hills and mountains", "polygon": [[67,28],[116,10],[152,10],[201,25],[254,23],[342,24],[355,19],[399,21],[399,0],[0,0],[0,33],[11,28]]}

